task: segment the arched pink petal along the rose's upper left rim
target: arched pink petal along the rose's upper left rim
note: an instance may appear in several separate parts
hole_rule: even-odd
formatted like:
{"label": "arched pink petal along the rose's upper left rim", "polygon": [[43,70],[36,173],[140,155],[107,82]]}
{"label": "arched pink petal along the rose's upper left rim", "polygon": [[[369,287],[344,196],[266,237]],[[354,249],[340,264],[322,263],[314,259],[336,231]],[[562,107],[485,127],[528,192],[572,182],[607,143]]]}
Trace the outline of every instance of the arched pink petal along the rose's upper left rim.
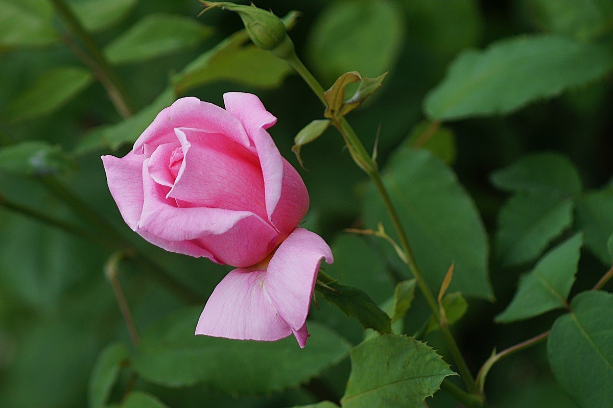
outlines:
{"label": "arched pink petal along the rose's upper left rim", "polygon": [[193,127],[211,133],[221,133],[237,143],[249,146],[249,137],[240,121],[224,108],[196,97],[177,99],[164,108],[134,143],[134,153],[141,154],[143,145],[161,145],[176,140],[175,127]]}

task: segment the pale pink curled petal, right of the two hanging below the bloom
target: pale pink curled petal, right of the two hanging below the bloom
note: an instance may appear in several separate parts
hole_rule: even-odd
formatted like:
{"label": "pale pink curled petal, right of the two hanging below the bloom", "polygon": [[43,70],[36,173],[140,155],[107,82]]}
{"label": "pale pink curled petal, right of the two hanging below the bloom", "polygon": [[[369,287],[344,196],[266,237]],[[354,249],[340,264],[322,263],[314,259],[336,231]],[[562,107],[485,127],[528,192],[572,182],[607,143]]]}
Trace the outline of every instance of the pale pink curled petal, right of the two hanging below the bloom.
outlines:
{"label": "pale pink curled petal, right of the two hanging below the bloom", "polygon": [[297,228],[276,249],[266,269],[265,288],[276,311],[299,331],[307,320],[319,264],[332,251],[316,233]]}

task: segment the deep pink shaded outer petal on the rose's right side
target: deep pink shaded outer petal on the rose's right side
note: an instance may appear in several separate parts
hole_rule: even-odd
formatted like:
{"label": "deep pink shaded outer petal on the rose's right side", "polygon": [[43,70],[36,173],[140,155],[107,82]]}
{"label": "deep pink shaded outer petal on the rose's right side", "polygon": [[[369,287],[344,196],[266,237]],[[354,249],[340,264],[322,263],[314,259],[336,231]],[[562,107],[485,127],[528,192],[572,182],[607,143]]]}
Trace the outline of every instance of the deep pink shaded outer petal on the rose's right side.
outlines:
{"label": "deep pink shaded outer petal on the rose's right side", "polygon": [[309,198],[305,183],[295,168],[286,159],[283,159],[281,198],[272,214],[272,224],[282,235],[289,235],[307,213],[308,204]]}

